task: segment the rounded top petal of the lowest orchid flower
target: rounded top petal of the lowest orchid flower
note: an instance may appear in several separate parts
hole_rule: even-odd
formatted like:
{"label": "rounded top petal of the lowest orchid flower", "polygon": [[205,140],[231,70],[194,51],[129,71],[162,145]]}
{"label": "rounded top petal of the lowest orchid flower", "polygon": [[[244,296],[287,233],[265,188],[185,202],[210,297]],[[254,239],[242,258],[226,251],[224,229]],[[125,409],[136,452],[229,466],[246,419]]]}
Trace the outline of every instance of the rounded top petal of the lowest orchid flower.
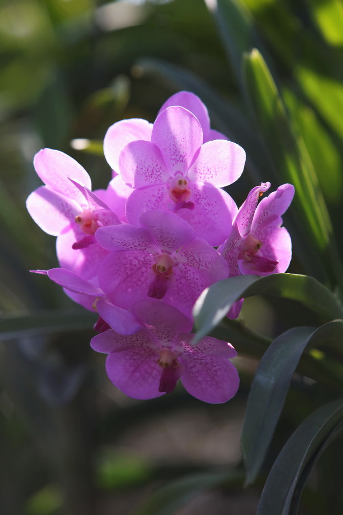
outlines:
{"label": "rounded top petal of the lowest orchid flower", "polygon": [[160,347],[172,348],[180,332],[189,332],[192,322],[175,307],[158,300],[140,300],[132,306],[132,312],[148,325]]}

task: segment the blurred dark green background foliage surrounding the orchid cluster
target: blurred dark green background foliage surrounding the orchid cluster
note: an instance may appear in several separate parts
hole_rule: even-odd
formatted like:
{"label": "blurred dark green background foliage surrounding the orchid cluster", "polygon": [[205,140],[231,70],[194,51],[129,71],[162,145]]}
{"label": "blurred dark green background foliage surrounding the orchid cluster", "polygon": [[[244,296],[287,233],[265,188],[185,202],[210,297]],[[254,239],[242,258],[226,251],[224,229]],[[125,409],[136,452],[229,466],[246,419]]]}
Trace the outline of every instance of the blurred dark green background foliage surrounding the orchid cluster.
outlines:
{"label": "blurred dark green background foliage surrounding the orchid cluster", "polygon": [[[343,13],[329,0],[237,5],[257,33],[293,133],[305,142],[340,234]],[[239,438],[257,361],[237,358],[241,388],[226,405],[201,403],[182,386],[157,400],[128,399],[107,380],[104,357],[89,349],[92,316],[88,320],[47,278],[28,273],[58,265],[55,238],[35,226],[25,210],[26,197],[40,185],[32,165],[35,152],[62,150],[85,167],[94,188],[106,187],[111,170],[101,154],[107,127],[131,117],[153,122],[178,90],[200,95],[212,127],[246,148],[243,177],[229,190],[238,204],[252,186],[271,180],[268,144],[256,139],[248,118],[240,63],[225,52],[230,33],[220,31],[208,6],[203,0],[3,0],[0,6],[0,308],[4,317],[60,317],[53,334],[42,329],[38,336],[28,333],[0,346],[4,515],[151,515],[159,505],[160,513],[178,515],[255,513],[265,476],[243,489]],[[234,18],[231,28],[244,44],[250,38]],[[272,189],[284,182],[275,171]],[[296,211],[293,219],[285,217],[285,225],[299,240]],[[289,271],[332,285],[330,270],[317,267],[317,259],[311,247],[295,252]],[[71,313],[75,323],[68,330]],[[305,308],[262,298],[245,302],[243,319],[270,337],[297,323],[315,323]],[[295,377],[265,473],[299,421],[330,393],[330,387]],[[302,513],[341,514],[334,469],[339,462],[337,449],[329,448],[304,492]],[[215,482],[215,474],[223,472]],[[175,490],[149,501],[156,487],[184,476]],[[192,480],[195,488],[185,488]],[[174,506],[183,488],[183,500]]]}

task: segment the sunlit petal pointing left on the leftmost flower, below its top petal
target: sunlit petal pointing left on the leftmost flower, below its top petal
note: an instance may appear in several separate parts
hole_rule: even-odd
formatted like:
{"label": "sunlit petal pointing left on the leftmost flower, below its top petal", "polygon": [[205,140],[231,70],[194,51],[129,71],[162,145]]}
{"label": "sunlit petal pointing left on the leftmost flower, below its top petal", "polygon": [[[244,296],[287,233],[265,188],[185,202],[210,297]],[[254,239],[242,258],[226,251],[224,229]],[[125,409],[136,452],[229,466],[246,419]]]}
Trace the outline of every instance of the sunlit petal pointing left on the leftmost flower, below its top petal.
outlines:
{"label": "sunlit petal pointing left on the leftmost flower, below its top petal", "polygon": [[26,200],[26,207],[36,224],[46,233],[58,236],[79,214],[79,205],[64,195],[40,186]]}

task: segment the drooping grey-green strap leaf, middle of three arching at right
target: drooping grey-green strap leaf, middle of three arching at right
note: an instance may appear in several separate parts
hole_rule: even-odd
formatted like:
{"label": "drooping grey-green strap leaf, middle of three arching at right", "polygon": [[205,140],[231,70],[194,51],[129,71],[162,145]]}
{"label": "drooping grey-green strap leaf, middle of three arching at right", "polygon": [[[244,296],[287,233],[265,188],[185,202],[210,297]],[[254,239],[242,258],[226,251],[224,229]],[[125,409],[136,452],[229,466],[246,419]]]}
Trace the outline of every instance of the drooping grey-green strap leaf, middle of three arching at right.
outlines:
{"label": "drooping grey-green strap leaf, middle of three arching at right", "polygon": [[251,384],[242,430],[246,484],[254,482],[262,466],[302,353],[308,347],[327,348],[342,340],[343,320],[334,320],[319,329],[290,329],[267,349]]}

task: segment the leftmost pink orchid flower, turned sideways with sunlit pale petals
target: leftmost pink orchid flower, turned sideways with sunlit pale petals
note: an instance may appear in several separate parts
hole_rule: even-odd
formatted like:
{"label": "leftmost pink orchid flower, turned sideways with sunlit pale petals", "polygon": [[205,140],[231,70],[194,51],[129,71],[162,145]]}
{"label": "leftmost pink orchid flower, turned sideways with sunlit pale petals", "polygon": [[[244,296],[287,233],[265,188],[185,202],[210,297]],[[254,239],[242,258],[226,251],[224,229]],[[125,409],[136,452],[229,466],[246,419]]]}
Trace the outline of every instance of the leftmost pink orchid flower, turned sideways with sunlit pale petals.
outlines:
{"label": "leftmost pink orchid flower, turned sideways with sunlit pale petals", "polygon": [[94,277],[107,252],[94,237],[105,225],[120,224],[117,215],[94,193],[86,170],[65,153],[45,148],[34,157],[34,167],[45,183],[32,192],[26,207],[43,231],[57,238],[60,265]]}

